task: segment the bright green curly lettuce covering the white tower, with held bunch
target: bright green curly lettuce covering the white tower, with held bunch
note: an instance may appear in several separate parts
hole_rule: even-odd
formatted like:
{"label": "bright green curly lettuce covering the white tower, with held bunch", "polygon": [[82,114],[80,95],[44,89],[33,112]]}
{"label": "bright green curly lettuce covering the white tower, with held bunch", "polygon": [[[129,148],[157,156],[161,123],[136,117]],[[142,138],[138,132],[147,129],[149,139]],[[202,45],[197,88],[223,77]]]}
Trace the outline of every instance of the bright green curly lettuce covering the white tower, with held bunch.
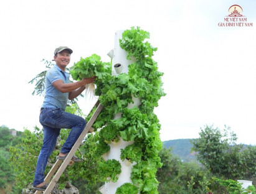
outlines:
{"label": "bright green curly lettuce covering the white tower, with held bunch", "polygon": [[[103,63],[95,54],[81,58],[70,68],[75,80],[97,76],[95,94],[104,106],[93,124],[95,129],[100,130],[97,153],[107,152],[108,144],[120,138],[134,141],[134,145],[121,150],[121,160],[126,158],[136,162],[131,172],[133,184],[124,184],[116,192],[125,190],[123,193],[132,193],[128,191],[136,187],[136,192],[139,190],[140,193],[158,193],[156,170],[162,165],[158,155],[162,148],[159,138],[161,126],[153,110],[158,106],[158,100],[166,94],[161,88],[163,73],[158,71],[158,63],[152,58],[157,49],[145,39],[149,39],[149,32],[141,30],[140,27],[131,27],[123,32],[120,47],[126,50],[128,59],[135,58],[135,62],[128,66],[128,74],[111,76],[110,63]],[[135,106],[128,109],[128,103],[133,103],[132,96],[140,98],[141,104],[138,108]],[[113,119],[116,113],[121,113],[120,119]],[[92,114],[88,119],[91,116]],[[115,182],[120,173],[119,167],[116,166],[118,170],[113,170],[107,175],[111,167],[108,169],[106,162],[99,164],[100,180]]]}

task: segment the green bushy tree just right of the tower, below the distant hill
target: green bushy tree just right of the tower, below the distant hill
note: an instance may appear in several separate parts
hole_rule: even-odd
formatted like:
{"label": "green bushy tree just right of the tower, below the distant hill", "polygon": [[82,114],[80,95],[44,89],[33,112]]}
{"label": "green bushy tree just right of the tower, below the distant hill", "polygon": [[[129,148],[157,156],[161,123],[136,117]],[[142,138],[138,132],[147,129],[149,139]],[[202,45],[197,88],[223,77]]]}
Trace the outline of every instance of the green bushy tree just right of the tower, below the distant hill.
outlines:
{"label": "green bushy tree just right of the tower, below the distant hill", "polygon": [[159,152],[163,166],[158,169],[158,192],[163,194],[203,193],[211,180],[207,170],[196,162],[181,162],[171,152],[172,148],[164,147]]}

